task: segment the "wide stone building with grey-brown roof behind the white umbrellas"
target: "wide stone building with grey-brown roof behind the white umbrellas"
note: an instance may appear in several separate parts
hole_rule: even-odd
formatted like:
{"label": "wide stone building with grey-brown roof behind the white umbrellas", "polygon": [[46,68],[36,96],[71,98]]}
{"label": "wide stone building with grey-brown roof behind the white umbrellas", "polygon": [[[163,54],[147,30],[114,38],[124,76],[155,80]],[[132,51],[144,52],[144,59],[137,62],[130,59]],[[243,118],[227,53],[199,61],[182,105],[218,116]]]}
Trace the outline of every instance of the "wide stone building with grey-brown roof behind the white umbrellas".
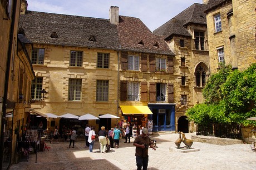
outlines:
{"label": "wide stone building with grey-brown roof behind the white umbrellas", "polygon": [[[31,106],[37,113],[117,114],[119,39],[115,24],[109,19],[26,11],[21,14],[19,28],[33,44],[27,49],[36,76]],[[43,100],[38,93],[42,89],[47,92]],[[36,119],[32,128],[37,126]],[[86,123],[96,129],[107,123],[66,121],[52,118],[45,128],[53,131],[56,125],[60,129],[63,125],[78,126],[83,134]]]}

